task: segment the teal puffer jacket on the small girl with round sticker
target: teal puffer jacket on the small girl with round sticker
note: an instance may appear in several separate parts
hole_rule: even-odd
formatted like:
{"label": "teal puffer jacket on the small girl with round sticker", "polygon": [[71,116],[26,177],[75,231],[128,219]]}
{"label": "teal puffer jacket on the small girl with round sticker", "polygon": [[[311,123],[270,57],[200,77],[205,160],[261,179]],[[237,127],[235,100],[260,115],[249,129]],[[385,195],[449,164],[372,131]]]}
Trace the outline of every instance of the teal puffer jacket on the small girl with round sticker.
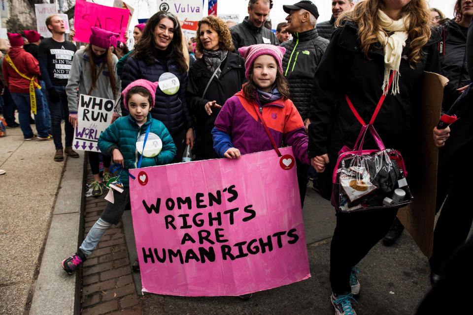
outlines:
{"label": "teal puffer jacket on the small girl with round sticker", "polygon": [[[103,154],[113,156],[114,149],[119,149],[123,155],[125,169],[135,169],[137,167],[140,154],[136,150],[136,140],[142,134],[146,133],[148,125],[151,124],[150,133],[154,133],[161,138],[163,142],[163,149],[161,152],[152,158],[143,156],[141,167],[164,165],[170,163],[176,155],[176,146],[172,141],[165,125],[148,113],[148,120],[141,127],[135,122],[131,115],[120,117],[115,120],[99,138],[99,147]],[[128,187],[128,174],[125,170],[119,171],[120,180],[124,187]]]}

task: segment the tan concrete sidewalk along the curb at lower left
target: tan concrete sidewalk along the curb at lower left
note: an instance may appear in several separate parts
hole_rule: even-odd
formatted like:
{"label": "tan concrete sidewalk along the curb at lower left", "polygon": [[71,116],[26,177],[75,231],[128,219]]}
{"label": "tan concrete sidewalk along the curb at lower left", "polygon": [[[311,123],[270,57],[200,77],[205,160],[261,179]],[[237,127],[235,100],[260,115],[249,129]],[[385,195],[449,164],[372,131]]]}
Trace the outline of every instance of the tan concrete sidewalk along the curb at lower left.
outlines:
{"label": "tan concrete sidewalk along the curb at lower left", "polygon": [[[64,196],[61,201],[58,195],[61,191],[63,194],[69,191],[78,196],[83,186],[84,154],[79,152],[78,159],[68,159],[66,156],[64,162],[55,162],[53,141],[24,141],[20,128],[6,131],[7,136],[0,138],[0,169],[6,171],[6,174],[0,175],[0,314],[20,315],[34,311],[31,303],[37,289],[37,278],[41,272],[48,274],[46,271],[40,272],[40,266],[46,238],[48,234],[51,236],[49,228],[53,213],[59,211],[58,207],[54,207],[55,202],[62,202],[59,208],[63,209],[66,204],[70,205],[79,218],[80,200]],[[66,168],[69,178],[65,181],[63,171]],[[62,188],[61,183],[64,185]],[[75,222],[77,230],[78,223]],[[60,224],[55,229],[67,232],[64,228]],[[63,241],[75,247],[77,236]],[[62,243],[55,245],[59,249],[63,247]],[[53,263],[56,264],[56,261]],[[46,265],[43,264],[43,267]],[[54,272],[50,274],[55,275]],[[58,282],[61,283],[61,280],[58,279]],[[55,287],[60,290],[60,287]],[[58,292],[51,293],[58,296]],[[50,303],[39,305],[43,311],[55,302],[65,302],[54,301],[52,296],[44,297]]]}

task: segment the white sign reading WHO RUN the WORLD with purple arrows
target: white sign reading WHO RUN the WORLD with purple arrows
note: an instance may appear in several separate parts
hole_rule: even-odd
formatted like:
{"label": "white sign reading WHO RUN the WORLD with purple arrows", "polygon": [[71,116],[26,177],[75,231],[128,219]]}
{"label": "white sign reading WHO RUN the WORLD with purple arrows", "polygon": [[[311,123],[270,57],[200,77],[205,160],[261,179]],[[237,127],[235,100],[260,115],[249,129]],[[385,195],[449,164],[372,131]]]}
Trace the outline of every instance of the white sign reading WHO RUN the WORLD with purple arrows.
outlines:
{"label": "white sign reading WHO RUN the WORLD with purple arrows", "polygon": [[75,127],[74,140],[72,141],[75,149],[100,152],[97,142],[100,134],[112,122],[114,107],[114,100],[79,95],[78,126]]}

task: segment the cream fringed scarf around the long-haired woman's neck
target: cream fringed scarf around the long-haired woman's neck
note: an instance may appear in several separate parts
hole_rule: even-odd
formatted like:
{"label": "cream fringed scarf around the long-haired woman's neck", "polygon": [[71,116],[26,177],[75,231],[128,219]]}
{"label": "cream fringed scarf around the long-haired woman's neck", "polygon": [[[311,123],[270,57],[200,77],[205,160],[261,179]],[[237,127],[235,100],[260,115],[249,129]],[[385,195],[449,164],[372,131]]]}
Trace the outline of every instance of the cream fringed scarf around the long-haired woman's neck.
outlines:
{"label": "cream fringed scarf around the long-haired woman's neck", "polygon": [[[396,95],[399,93],[399,65],[401,64],[401,57],[407,40],[409,29],[410,16],[406,15],[402,19],[392,20],[381,10],[378,10],[379,27],[378,41],[384,47],[384,82],[382,89],[385,90],[389,86],[389,76],[391,71],[396,71],[391,89],[391,93]],[[388,32],[394,32],[390,36],[386,36],[383,29]],[[385,94],[387,93],[385,90]]]}

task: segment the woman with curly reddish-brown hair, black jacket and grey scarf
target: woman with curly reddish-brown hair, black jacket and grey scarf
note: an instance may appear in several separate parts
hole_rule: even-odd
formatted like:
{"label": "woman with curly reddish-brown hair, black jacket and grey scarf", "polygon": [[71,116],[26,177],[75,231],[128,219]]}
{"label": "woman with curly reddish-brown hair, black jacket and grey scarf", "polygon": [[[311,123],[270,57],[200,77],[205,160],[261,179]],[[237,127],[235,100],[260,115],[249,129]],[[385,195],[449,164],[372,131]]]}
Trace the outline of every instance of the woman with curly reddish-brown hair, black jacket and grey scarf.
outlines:
{"label": "woman with curly reddish-brown hair, black jacket and grey scarf", "polygon": [[198,23],[196,50],[203,57],[189,71],[187,102],[196,117],[196,157],[218,158],[211,131],[220,108],[241,89],[245,59],[233,53],[232,35],[222,19],[210,15]]}

